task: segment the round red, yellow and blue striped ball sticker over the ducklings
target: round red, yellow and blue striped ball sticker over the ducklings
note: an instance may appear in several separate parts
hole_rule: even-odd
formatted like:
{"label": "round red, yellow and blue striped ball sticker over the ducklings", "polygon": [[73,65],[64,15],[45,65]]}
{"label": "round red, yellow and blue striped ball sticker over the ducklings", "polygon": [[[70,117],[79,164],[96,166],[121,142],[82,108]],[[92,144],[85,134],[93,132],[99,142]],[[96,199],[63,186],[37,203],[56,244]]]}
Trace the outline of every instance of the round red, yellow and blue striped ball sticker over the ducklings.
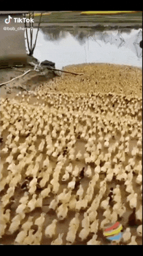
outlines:
{"label": "round red, yellow and blue striped ball sticker over the ducklings", "polygon": [[122,238],[122,224],[120,224],[118,221],[114,225],[110,225],[110,227],[107,227],[103,231],[103,235],[107,238],[107,240],[110,240],[112,244],[115,242],[120,242]]}

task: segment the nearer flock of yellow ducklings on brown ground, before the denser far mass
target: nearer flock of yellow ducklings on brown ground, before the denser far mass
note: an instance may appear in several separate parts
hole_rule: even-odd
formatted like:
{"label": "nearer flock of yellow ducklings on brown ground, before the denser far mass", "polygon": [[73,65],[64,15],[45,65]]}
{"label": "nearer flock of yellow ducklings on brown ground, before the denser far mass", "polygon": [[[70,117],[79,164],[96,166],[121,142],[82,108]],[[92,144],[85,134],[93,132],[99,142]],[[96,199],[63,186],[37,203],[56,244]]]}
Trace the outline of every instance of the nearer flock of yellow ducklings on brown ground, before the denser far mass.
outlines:
{"label": "nearer flock of yellow ducklings on brown ground, before the denser far mass", "polygon": [[142,243],[142,98],[41,88],[0,111],[1,244],[108,244],[119,219]]}

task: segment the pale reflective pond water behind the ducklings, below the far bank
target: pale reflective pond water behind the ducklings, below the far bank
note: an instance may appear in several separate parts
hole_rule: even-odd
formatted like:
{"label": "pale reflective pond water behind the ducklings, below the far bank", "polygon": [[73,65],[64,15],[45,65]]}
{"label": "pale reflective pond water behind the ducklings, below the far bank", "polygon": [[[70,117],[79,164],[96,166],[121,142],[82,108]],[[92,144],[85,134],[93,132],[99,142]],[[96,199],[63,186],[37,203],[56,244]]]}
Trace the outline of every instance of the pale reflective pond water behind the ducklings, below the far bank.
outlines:
{"label": "pale reflective pond water behind the ducklings, below the far bank", "polygon": [[[33,29],[33,42],[36,31]],[[96,31],[88,27],[43,27],[38,31],[33,56],[39,61],[55,62],[57,69],[80,63],[142,67],[141,41],[142,29]]]}

